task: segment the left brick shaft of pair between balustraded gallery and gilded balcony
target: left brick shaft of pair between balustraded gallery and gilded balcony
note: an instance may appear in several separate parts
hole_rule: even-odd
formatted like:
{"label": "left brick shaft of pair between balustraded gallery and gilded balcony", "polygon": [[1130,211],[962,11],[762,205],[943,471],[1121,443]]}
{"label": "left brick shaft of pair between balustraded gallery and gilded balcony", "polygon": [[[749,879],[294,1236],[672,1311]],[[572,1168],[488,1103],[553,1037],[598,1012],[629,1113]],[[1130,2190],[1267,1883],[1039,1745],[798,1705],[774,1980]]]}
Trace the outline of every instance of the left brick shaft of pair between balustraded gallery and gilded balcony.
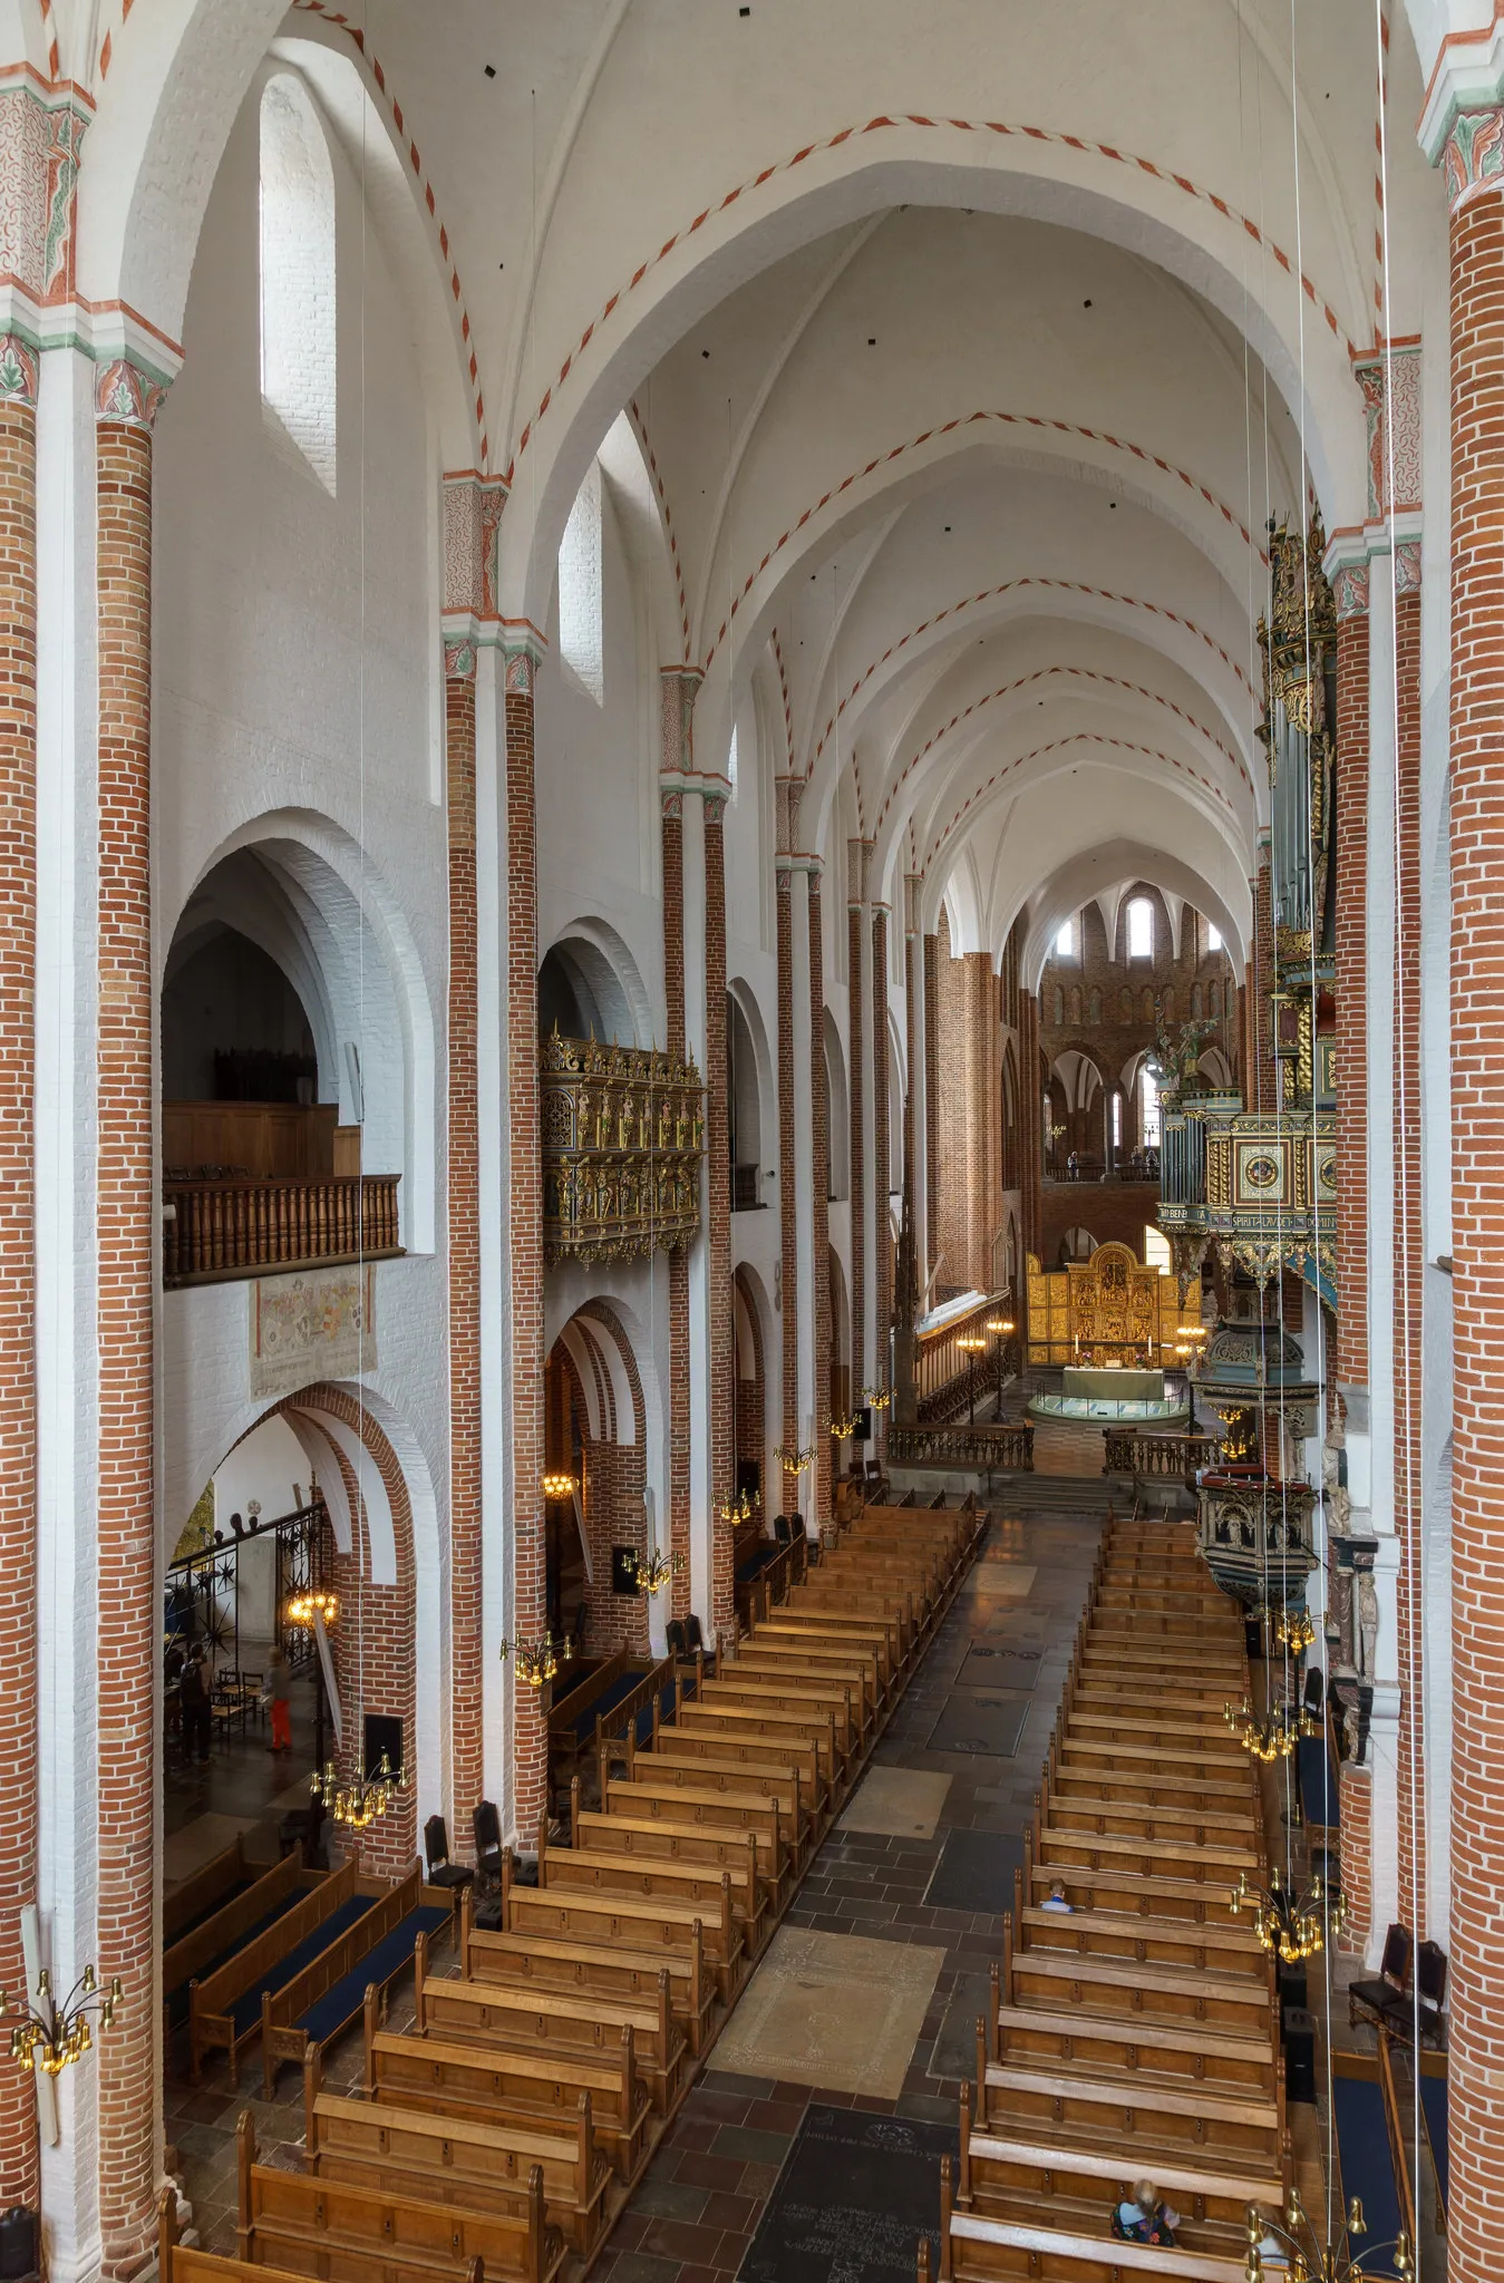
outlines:
{"label": "left brick shaft of pair between balustraded gallery and gilded balcony", "polygon": [[475,644],[445,642],[450,792],[450,1845],[470,1854],[484,1794],[482,1249],[475,904]]}

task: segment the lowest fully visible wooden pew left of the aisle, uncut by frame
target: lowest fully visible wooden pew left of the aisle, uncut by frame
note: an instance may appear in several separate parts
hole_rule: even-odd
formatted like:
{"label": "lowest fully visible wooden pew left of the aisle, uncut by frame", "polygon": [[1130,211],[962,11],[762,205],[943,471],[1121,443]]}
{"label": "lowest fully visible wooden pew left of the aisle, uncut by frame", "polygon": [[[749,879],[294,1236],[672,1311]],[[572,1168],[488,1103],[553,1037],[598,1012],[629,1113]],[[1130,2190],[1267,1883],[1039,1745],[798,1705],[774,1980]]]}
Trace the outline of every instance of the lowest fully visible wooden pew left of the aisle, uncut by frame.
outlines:
{"label": "lowest fully visible wooden pew left of the aisle, uncut by frame", "polygon": [[468,2212],[525,2219],[534,2167],[543,2173],[548,2224],[589,2258],[605,2228],[612,2167],[596,2146],[589,2094],[573,2116],[548,2125],[477,2123],[390,2100],[326,2094],[320,2048],[304,2062],[304,2167],[320,2180],[345,2180],[377,2194]]}

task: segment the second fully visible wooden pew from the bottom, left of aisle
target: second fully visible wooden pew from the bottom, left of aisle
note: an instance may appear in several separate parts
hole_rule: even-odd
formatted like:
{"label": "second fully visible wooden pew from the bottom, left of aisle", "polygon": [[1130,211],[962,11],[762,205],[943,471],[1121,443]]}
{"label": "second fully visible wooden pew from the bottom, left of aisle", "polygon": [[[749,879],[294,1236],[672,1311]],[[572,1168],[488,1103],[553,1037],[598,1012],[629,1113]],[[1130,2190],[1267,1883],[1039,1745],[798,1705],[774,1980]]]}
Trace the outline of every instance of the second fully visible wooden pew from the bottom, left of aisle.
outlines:
{"label": "second fully visible wooden pew from the bottom, left of aisle", "polygon": [[589,2100],[596,2141],[616,2167],[616,2178],[634,2180],[646,2160],[653,2105],[637,2082],[630,2025],[607,2052],[477,2046],[436,2032],[404,2036],[379,2030],[372,1993],[365,2007],[365,2091],[379,2107],[525,2128],[548,2128]]}

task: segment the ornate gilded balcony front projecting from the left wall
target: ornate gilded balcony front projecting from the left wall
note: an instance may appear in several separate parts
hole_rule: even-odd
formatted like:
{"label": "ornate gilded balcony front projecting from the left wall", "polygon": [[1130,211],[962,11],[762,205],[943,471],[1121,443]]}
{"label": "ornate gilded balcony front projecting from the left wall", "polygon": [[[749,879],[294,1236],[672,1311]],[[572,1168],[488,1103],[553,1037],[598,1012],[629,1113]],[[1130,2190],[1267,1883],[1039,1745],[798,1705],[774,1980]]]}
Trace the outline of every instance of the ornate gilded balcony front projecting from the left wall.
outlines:
{"label": "ornate gilded balcony front projecting from the left wall", "polygon": [[694,1062],[564,1039],[539,1055],[543,1258],[676,1253],[701,1226],[705,1089]]}

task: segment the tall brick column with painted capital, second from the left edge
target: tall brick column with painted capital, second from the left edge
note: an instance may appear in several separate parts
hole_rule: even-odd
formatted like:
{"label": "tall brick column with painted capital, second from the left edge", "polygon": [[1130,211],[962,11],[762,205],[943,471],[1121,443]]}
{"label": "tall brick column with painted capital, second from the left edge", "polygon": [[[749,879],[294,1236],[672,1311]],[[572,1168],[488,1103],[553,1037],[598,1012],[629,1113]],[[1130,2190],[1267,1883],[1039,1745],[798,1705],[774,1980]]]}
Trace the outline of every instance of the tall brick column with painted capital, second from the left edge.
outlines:
{"label": "tall brick column with painted capital, second from the left edge", "polygon": [[162,384],[96,381],[98,470],[98,1975],[130,2014],[98,2039],[103,2274],[139,2272],[155,2192],[155,1742],[151,1116],[151,431]]}

